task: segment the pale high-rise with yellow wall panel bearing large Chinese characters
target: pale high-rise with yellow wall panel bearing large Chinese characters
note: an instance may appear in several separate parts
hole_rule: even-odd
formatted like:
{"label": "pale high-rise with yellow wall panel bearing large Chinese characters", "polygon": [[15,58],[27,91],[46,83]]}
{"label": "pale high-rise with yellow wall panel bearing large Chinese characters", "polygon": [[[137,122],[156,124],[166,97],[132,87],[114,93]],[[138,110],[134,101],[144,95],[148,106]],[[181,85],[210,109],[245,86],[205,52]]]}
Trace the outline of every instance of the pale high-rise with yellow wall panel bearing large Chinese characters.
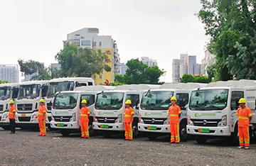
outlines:
{"label": "pale high-rise with yellow wall panel bearing large Chinese characters", "polygon": [[114,82],[114,75],[120,74],[120,58],[117,49],[117,43],[112,39],[111,35],[98,35],[98,28],[82,28],[78,31],[68,34],[67,40],[63,41],[63,45],[67,43],[75,43],[80,48],[90,48],[92,50],[102,50],[108,56],[107,65],[111,67],[110,72],[103,71],[101,74],[93,74],[95,84],[102,84],[106,81]]}

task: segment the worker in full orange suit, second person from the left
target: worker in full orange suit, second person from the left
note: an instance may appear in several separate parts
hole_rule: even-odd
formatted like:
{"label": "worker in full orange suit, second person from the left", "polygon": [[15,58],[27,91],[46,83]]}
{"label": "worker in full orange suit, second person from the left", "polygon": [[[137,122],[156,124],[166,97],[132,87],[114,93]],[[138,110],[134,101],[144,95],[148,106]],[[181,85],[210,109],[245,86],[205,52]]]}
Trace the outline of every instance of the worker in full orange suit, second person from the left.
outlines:
{"label": "worker in full orange suit, second person from the left", "polygon": [[39,101],[39,109],[38,109],[38,124],[40,128],[40,135],[38,136],[46,136],[46,106],[44,105],[44,99]]}

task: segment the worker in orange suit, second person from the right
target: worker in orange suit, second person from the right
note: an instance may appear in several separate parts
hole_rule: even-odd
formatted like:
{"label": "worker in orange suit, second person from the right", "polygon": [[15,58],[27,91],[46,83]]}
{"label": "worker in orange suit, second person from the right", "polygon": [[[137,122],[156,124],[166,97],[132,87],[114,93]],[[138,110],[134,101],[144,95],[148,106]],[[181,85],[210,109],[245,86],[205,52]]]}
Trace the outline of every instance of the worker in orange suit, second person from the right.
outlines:
{"label": "worker in orange suit, second person from the right", "polygon": [[176,97],[172,96],[168,114],[170,115],[171,143],[178,144],[180,141],[179,118],[181,117],[181,108],[176,104],[176,101]]}

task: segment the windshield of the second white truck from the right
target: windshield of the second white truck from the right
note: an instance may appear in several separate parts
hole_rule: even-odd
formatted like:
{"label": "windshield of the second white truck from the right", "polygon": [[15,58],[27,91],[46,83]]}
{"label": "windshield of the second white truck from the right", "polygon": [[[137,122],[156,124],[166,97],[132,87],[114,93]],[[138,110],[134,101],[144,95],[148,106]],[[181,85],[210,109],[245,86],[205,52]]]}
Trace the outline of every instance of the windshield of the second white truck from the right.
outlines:
{"label": "windshield of the second white truck from the right", "polygon": [[174,92],[144,92],[141,109],[143,110],[166,110],[171,104]]}

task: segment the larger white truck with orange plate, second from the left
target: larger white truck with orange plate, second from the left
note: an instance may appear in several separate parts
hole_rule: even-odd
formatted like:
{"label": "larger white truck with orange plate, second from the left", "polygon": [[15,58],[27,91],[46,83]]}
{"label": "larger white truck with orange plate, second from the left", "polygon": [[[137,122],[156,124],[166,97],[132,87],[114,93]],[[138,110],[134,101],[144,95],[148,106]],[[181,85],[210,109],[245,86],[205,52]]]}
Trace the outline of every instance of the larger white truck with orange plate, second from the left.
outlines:
{"label": "larger white truck with orange plate, second from the left", "polygon": [[[16,99],[16,123],[21,128],[38,130],[39,101],[46,96],[48,81],[30,81],[19,84],[18,98]],[[50,124],[46,118],[46,124]]]}

